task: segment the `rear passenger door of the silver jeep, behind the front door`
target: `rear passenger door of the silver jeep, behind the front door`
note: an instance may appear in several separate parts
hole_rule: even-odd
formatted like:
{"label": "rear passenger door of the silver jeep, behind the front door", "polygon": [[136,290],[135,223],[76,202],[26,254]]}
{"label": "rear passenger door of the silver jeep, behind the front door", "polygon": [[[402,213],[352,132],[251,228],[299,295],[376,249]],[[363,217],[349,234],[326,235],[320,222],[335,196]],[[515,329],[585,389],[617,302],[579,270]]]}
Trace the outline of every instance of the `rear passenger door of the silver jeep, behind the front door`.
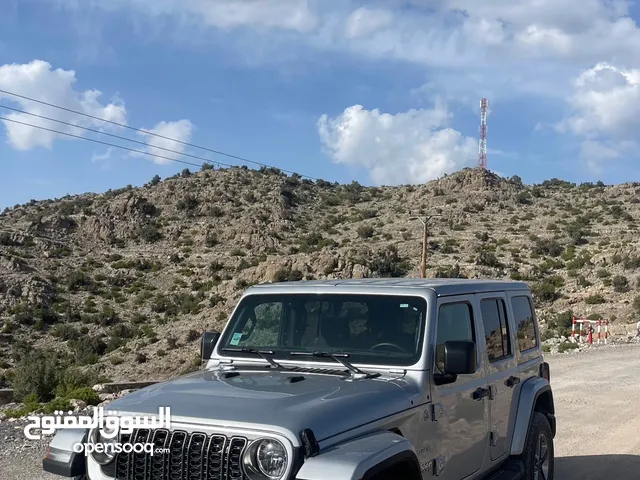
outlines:
{"label": "rear passenger door of the silver jeep, behind the front door", "polygon": [[519,383],[518,364],[513,348],[513,332],[504,293],[477,295],[482,317],[484,359],[487,381],[491,389],[489,399],[491,460],[507,453],[509,425],[515,415],[512,407],[513,392]]}

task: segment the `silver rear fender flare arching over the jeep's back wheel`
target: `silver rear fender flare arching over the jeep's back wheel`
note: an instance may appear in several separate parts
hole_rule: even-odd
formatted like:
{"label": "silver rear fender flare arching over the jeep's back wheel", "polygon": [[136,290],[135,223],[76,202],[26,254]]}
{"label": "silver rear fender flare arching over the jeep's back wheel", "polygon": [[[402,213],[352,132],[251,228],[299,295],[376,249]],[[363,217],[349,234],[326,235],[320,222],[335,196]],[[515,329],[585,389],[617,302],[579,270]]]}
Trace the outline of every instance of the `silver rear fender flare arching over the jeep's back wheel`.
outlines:
{"label": "silver rear fender flare arching over the jeep's back wheel", "polygon": [[531,377],[520,387],[518,410],[513,427],[511,441],[511,455],[520,455],[524,450],[524,444],[529,432],[529,424],[535,409],[536,402],[541,395],[545,395],[544,413],[549,419],[553,436],[556,434],[555,407],[551,384],[546,378]]}

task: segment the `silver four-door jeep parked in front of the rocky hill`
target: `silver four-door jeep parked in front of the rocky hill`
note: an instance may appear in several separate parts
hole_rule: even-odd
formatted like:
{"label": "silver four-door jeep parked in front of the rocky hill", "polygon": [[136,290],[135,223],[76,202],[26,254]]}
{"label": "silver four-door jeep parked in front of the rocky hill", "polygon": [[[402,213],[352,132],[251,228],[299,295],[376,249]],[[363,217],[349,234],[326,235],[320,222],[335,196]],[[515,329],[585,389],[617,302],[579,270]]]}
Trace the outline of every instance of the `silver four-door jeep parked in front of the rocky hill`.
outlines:
{"label": "silver four-door jeep parked in front of the rocky hill", "polygon": [[[203,367],[109,404],[171,425],[65,429],[46,471],[90,480],[552,480],[549,365],[526,283],[285,282],[249,288]],[[76,443],[156,453],[74,453]]]}

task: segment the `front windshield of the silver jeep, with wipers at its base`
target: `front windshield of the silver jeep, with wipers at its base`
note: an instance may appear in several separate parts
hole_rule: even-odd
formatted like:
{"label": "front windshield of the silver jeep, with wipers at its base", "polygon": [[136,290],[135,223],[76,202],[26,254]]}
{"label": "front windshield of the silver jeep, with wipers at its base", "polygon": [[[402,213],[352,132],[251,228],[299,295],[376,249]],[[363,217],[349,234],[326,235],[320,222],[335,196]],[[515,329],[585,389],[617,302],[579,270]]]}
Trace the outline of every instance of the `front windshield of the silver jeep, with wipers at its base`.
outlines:
{"label": "front windshield of the silver jeep, with wipers at its base", "polygon": [[417,296],[248,295],[220,339],[220,353],[247,356],[239,350],[253,348],[276,359],[326,362],[292,355],[320,351],[348,354],[351,363],[408,366],[420,358],[426,311]]}

